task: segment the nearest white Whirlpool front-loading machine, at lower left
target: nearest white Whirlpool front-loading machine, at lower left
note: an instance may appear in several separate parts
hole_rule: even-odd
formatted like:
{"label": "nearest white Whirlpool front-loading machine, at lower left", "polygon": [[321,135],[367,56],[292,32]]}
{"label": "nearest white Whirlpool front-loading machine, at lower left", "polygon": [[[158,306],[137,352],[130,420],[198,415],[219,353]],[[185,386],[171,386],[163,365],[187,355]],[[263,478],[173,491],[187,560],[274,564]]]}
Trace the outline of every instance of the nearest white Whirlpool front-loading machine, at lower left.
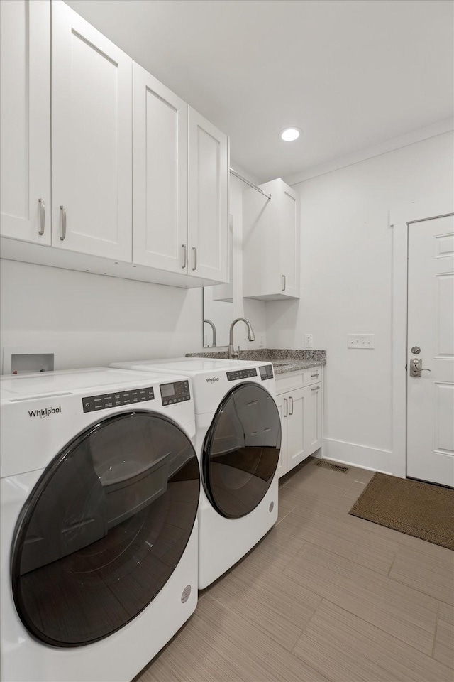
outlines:
{"label": "nearest white Whirlpool front-loading machine, at lower left", "polygon": [[1,680],[128,682],[196,607],[190,381],[96,368],[0,385]]}

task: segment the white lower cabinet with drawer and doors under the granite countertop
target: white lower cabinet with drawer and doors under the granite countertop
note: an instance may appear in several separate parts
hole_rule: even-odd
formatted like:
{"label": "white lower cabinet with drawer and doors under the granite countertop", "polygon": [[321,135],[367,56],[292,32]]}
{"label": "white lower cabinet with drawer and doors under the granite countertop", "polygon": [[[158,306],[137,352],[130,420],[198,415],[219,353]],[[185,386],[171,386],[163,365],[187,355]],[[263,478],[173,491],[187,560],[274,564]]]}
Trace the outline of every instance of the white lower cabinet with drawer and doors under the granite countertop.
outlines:
{"label": "white lower cabinet with drawer and doors under the granite countertop", "polygon": [[280,478],[321,447],[321,367],[278,375],[276,393],[282,424]]}

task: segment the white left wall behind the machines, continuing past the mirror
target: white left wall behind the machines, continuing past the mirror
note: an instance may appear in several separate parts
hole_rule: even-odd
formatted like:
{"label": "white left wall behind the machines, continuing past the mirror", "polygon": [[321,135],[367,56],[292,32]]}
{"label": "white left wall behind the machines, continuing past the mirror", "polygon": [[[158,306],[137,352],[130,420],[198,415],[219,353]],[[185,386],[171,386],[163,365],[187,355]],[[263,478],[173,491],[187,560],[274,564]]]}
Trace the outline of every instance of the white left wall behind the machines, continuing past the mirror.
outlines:
{"label": "white left wall behind the machines, continuing past the mirror", "polygon": [[[240,254],[243,188],[232,178],[231,212]],[[235,314],[243,315],[241,262],[234,262]],[[175,357],[202,350],[202,292],[1,260],[1,347],[55,349],[55,369],[96,367],[127,359]],[[261,302],[258,302],[261,303]],[[265,308],[247,314],[256,330],[235,340],[258,346]],[[243,325],[241,325],[243,326]],[[3,365],[2,365],[3,366]]]}

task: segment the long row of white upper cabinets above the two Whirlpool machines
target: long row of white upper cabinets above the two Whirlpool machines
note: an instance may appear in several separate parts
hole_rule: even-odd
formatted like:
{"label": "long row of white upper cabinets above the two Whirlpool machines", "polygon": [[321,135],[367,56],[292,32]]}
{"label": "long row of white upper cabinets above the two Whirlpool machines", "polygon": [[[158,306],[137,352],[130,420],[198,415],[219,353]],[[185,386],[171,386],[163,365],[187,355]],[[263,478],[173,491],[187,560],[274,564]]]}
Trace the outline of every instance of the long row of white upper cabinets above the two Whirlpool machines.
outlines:
{"label": "long row of white upper cabinets above the two Whirlpool machines", "polygon": [[228,281],[226,135],[62,0],[0,8],[1,255]]}

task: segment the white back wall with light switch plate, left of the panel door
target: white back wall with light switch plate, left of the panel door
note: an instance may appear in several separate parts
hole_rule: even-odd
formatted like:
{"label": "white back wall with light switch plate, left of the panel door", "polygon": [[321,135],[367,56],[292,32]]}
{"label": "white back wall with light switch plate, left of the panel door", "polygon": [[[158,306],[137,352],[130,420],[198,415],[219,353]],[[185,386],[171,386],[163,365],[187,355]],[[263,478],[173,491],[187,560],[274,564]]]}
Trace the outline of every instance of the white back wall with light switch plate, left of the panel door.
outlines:
{"label": "white back wall with light switch plate, left of the panel door", "polygon": [[[356,163],[301,193],[301,299],[267,303],[269,347],[327,350],[323,454],[397,471],[392,455],[392,229],[389,209],[452,193],[453,134]],[[348,350],[349,333],[375,350]]]}

